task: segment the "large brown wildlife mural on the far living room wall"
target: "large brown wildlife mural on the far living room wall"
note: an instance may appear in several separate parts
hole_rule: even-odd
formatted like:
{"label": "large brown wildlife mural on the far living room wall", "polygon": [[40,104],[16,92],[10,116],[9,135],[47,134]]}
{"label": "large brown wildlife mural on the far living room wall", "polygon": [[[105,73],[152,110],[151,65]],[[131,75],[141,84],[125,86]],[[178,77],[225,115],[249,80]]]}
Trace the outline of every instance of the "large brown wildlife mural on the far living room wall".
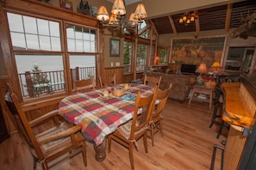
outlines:
{"label": "large brown wildlife mural on the far living room wall", "polygon": [[201,64],[209,67],[215,61],[222,63],[226,37],[200,39],[172,39],[172,64]]}

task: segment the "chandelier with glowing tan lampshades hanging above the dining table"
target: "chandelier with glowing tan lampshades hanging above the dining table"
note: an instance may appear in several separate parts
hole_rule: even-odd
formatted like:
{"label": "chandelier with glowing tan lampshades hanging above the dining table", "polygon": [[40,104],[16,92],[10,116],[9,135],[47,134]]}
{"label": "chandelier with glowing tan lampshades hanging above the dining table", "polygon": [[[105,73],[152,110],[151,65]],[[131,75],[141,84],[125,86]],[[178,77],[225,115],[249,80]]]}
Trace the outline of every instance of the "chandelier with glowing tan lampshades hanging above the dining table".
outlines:
{"label": "chandelier with glowing tan lampshades hanging above the dining table", "polygon": [[128,21],[125,21],[126,9],[124,7],[123,0],[115,0],[111,10],[111,15],[104,6],[101,6],[97,12],[97,20],[103,26],[124,28],[134,28],[143,22],[143,19],[147,17],[147,12],[143,4],[138,4],[134,13],[129,16]]}

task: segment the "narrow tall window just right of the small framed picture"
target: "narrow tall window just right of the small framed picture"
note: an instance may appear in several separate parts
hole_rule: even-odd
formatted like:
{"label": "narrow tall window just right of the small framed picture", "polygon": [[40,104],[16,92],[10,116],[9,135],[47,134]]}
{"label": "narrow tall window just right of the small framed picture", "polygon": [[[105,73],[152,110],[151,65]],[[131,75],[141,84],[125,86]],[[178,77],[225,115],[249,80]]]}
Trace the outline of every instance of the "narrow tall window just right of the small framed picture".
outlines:
{"label": "narrow tall window just right of the small framed picture", "polygon": [[132,61],[132,43],[128,41],[124,41],[124,60],[123,60],[123,73],[130,73],[131,72],[131,61]]}

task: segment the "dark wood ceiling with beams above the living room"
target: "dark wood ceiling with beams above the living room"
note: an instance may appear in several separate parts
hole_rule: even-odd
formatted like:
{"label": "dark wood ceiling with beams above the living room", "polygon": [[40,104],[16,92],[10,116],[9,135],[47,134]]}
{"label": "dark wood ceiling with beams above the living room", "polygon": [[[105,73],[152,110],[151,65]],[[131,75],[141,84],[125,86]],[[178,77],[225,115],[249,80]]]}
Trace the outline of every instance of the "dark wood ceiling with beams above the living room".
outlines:
{"label": "dark wood ceiling with beams above the living room", "polygon": [[197,15],[196,20],[187,26],[178,22],[183,13],[153,18],[151,23],[159,34],[196,32],[195,35],[198,35],[200,31],[215,29],[225,29],[228,32],[229,28],[240,27],[241,16],[244,18],[256,12],[256,1],[248,0],[189,12]]}

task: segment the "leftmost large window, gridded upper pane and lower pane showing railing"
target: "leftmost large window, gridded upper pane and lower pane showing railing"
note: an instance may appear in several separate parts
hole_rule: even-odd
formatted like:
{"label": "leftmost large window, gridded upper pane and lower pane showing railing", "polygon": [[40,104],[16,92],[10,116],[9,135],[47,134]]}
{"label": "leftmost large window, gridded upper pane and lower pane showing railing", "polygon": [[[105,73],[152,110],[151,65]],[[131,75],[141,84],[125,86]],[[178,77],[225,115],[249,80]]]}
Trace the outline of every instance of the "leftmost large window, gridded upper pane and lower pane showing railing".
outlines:
{"label": "leftmost large window, gridded upper pane and lower pane showing railing", "polygon": [[12,13],[7,16],[22,96],[64,91],[59,22]]}

